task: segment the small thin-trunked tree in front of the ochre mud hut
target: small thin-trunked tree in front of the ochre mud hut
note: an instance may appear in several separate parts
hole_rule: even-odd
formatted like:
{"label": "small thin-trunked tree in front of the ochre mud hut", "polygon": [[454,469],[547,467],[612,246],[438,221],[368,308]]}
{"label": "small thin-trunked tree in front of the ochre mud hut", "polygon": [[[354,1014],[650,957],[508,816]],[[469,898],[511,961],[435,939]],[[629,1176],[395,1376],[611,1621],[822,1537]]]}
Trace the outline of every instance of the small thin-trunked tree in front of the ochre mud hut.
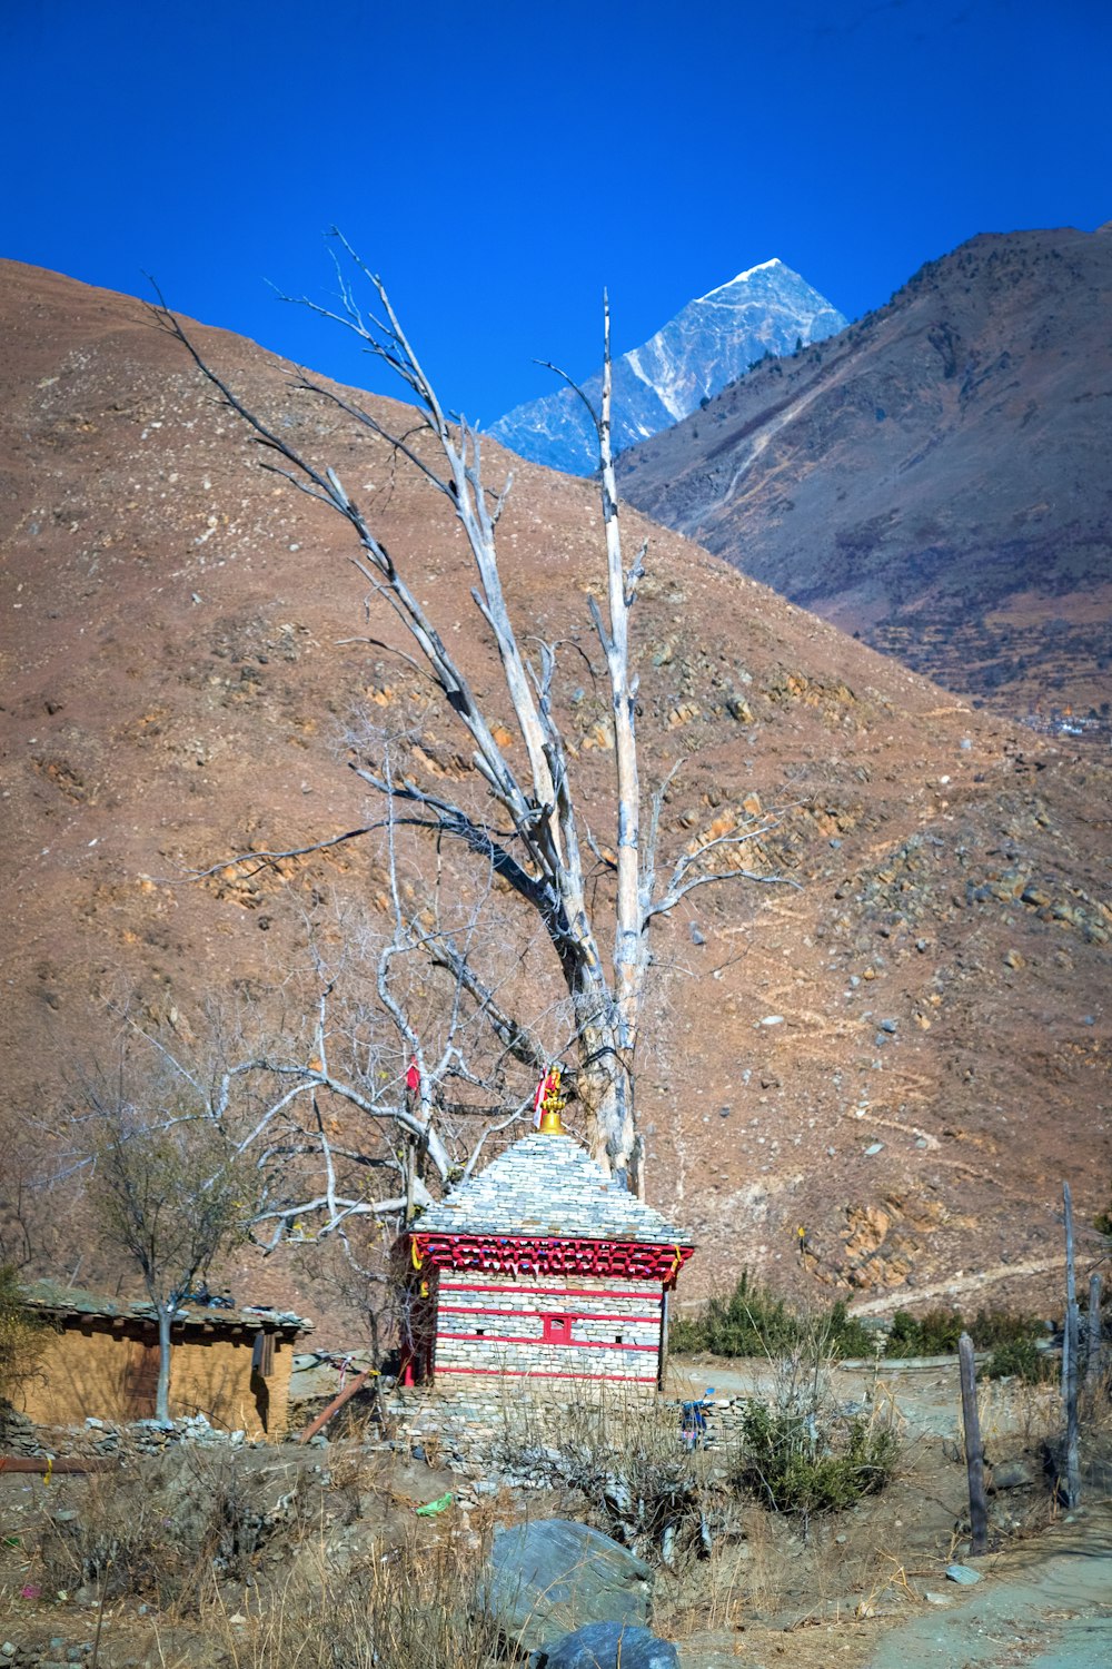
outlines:
{"label": "small thin-trunked tree in front of the ochre mud hut", "polygon": [[248,1217],[243,1168],[220,1128],[190,1108],[145,1120],[100,1108],[93,1200],[103,1238],[143,1277],[158,1322],[155,1419],[170,1419],[170,1327],[183,1298]]}

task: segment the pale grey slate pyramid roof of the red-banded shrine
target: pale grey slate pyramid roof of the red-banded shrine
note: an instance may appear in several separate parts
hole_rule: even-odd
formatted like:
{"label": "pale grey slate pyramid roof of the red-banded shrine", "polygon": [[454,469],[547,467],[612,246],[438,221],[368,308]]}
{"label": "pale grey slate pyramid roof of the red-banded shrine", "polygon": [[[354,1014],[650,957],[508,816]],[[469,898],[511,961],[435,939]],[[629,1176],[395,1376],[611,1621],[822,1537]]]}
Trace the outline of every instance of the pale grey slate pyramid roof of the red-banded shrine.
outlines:
{"label": "pale grey slate pyramid roof of the red-banded shrine", "polygon": [[690,1245],[690,1235],[644,1205],[572,1137],[535,1132],[438,1200],[413,1228],[448,1235],[567,1235]]}

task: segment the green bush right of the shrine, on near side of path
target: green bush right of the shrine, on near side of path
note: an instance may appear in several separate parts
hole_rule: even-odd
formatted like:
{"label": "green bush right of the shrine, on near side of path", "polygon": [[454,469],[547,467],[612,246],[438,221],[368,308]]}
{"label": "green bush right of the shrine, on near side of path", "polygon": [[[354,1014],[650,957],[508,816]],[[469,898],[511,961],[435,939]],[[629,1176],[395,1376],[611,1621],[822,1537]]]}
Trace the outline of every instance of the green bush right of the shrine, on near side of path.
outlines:
{"label": "green bush right of the shrine, on near side of path", "polygon": [[897,1454],[895,1432],[862,1415],[832,1419],[750,1400],[734,1475],[770,1510],[810,1519],[875,1495],[892,1479]]}

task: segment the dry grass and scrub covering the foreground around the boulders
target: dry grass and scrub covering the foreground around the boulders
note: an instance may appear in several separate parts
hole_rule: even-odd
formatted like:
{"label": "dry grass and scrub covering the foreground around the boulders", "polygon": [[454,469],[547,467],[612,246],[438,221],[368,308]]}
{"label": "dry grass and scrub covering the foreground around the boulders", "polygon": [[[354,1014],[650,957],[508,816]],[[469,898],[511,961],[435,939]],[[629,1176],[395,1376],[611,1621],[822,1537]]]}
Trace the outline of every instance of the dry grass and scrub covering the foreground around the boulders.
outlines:
{"label": "dry grass and scrub covering the foreground around the boulders", "polygon": [[[824,1375],[812,1360],[770,1364],[765,1395],[827,1409]],[[880,1380],[872,1405],[874,1419],[895,1419]],[[827,1410],[844,1419],[837,1402]],[[1040,1450],[1060,1434],[1060,1400],[1052,1385],[984,1382],[980,1412],[990,1459],[1022,1457],[1032,1470],[1029,1489],[994,1497],[994,1534],[1007,1542],[1054,1515]],[[405,1482],[413,1487],[405,1457],[373,1452],[355,1435],[302,1450],[288,1470],[260,1452],[252,1460],[177,1450],[142,1470],[128,1462],[120,1474],[47,1492],[43,1587],[73,1592],[83,1582],[117,1617],[147,1597],[162,1654],[153,1661],[167,1669],[198,1661],[213,1669],[478,1669],[498,1649],[478,1604],[482,1554],[493,1524],[520,1517],[525,1500],[533,1512],[587,1519],[655,1564],[654,1626],[667,1637],[722,1636],[749,1651],[767,1629],[800,1629],[794,1637],[817,1649],[835,1627],[857,1642],[865,1619],[917,1602],[947,1556],[964,1552],[957,1399],[950,1430],[957,1445],[905,1440],[884,1495],[817,1515],[805,1534],[799,1515],[767,1512],[730,1487],[725,1445],[684,1450],[677,1410],[642,1399],[507,1404],[502,1465],[543,1475],[552,1494],[503,1489],[470,1514],[438,1519],[413,1519],[413,1499],[402,1492]],[[1090,1399],[1082,1434],[1082,1457],[1100,1444],[1109,1452],[1107,1387]],[[70,1504],[78,1520],[58,1524],[57,1509]]]}

